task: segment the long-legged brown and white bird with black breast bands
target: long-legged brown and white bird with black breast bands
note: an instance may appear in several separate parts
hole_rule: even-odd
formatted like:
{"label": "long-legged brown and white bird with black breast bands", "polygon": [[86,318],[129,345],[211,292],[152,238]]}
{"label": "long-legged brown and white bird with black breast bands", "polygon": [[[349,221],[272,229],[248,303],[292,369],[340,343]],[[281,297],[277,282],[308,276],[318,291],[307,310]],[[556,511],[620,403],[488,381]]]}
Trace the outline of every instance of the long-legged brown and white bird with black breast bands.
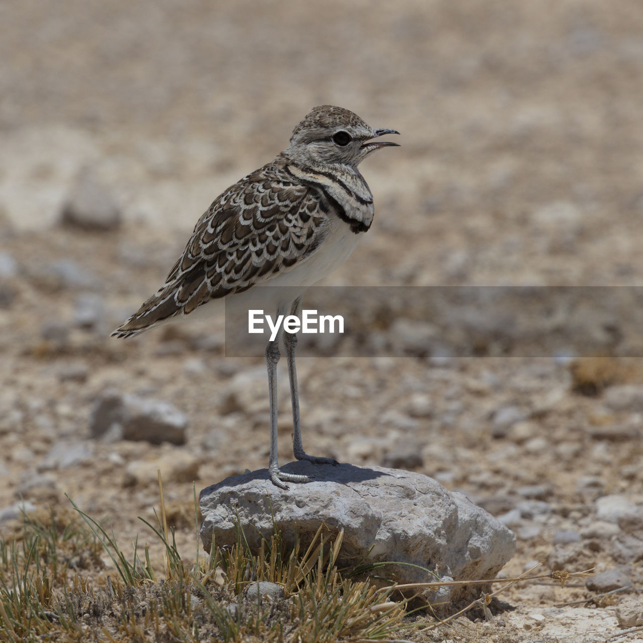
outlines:
{"label": "long-legged brown and white bird with black breast bands", "polygon": [[[201,316],[212,302],[231,300],[262,285],[288,286],[275,301],[276,313],[297,315],[307,287],[346,260],[371,227],[373,195],[358,165],[376,150],[399,145],[379,140],[385,134],[399,132],[370,127],[343,107],[313,107],[294,128],[287,149],[213,201],[195,224],[165,283],[112,336],[128,338],[167,321]],[[313,464],[338,462],[303,450],[294,361],[297,336],[282,327],[265,352],[270,402],[268,475],[277,487],[288,489],[287,482],[309,482],[313,476],[281,471],[278,464],[276,367],[282,339],[294,457]]]}

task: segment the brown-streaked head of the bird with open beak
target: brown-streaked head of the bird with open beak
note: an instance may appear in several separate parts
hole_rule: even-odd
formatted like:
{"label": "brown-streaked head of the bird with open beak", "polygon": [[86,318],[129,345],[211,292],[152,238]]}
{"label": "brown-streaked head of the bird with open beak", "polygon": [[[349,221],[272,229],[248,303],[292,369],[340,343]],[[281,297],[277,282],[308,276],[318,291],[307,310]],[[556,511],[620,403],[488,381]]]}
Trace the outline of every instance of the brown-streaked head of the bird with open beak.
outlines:
{"label": "brown-streaked head of the bird with open beak", "polygon": [[313,107],[294,128],[286,152],[305,165],[344,163],[357,167],[374,150],[398,145],[373,140],[385,134],[399,132],[373,129],[348,109],[320,105]]}

